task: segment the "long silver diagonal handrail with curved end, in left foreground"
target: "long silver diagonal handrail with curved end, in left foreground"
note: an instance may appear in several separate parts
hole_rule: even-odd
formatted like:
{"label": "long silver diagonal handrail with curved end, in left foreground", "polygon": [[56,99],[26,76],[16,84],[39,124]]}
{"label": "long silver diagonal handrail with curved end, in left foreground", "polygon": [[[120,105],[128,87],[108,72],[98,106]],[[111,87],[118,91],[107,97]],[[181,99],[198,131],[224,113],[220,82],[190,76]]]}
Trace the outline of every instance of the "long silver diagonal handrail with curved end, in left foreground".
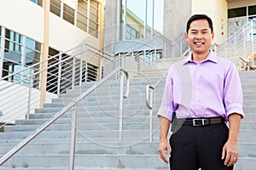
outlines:
{"label": "long silver diagonal handrail with curved end, in left foreground", "polygon": [[49,127],[53,122],[55,122],[58,118],[60,118],[62,115],[64,115],[68,110],[73,108],[75,105],[79,103],[84,97],[86,97],[88,94],[93,92],[96,88],[102,85],[103,82],[106,82],[110,77],[113,77],[118,71],[125,72],[126,76],[126,92],[124,94],[124,97],[128,97],[129,95],[129,88],[130,88],[130,77],[129,73],[125,71],[123,68],[119,67],[108,74],[108,76],[104,77],[101,81],[97,82],[95,85],[93,85],[91,88],[86,90],[83,94],[79,95],[76,99],[73,99],[73,102],[70,102],[66,107],[61,109],[61,111],[58,111],[55,116],[52,116],[47,122],[44,122],[40,127],[38,127],[34,132],[32,132],[30,135],[26,137],[26,139],[23,139],[19,144],[17,144],[12,150],[9,150],[8,153],[6,153],[4,156],[0,159],[0,166],[3,165],[5,161],[8,161],[11,156],[14,156],[16,152],[21,150],[26,144],[28,144],[32,139],[36,138],[38,134],[42,133],[45,128]]}

